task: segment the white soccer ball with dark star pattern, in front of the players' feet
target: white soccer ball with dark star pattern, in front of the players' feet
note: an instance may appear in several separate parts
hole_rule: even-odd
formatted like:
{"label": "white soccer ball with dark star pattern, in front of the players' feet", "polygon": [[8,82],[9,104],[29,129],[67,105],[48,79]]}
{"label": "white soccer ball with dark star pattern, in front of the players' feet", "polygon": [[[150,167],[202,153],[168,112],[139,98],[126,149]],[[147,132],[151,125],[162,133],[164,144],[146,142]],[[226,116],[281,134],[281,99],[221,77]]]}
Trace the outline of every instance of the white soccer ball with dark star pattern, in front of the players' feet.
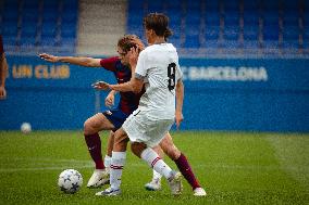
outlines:
{"label": "white soccer ball with dark star pattern, in front of the players' feet", "polygon": [[58,185],[64,193],[73,194],[77,192],[83,184],[82,175],[75,169],[65,169],[58,179]]}

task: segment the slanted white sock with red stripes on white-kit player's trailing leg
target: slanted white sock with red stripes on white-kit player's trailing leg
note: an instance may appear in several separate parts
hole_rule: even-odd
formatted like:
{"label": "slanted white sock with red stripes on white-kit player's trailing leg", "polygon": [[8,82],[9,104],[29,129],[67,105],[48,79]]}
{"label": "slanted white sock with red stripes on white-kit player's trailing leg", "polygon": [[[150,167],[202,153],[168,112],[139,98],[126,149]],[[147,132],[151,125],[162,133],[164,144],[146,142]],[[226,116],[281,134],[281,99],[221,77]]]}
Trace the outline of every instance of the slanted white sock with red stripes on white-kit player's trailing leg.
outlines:
{"label": "slanted white sock with red stripes on white-kit player's trailing leg", "polygon": [[164,176],[166,179],[171,177],[172,169],[166,165],[160,156],[150,148],[145,149],[140,157],[148,163],[157,172]]}

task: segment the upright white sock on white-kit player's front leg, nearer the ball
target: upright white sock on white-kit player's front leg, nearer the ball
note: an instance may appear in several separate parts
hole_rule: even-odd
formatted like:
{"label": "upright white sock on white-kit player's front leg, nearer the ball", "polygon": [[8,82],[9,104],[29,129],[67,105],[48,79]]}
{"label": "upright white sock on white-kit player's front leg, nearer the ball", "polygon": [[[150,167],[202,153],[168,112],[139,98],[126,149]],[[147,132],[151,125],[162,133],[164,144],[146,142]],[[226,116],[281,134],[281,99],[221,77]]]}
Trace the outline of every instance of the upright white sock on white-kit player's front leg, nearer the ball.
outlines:
{"label": "upright white sock on white-kit player's front leg, nearer the ball", "polygon": [[126,152],[112,152],[110,183],[114,190],[120,189],[122,169],[125,163]]}

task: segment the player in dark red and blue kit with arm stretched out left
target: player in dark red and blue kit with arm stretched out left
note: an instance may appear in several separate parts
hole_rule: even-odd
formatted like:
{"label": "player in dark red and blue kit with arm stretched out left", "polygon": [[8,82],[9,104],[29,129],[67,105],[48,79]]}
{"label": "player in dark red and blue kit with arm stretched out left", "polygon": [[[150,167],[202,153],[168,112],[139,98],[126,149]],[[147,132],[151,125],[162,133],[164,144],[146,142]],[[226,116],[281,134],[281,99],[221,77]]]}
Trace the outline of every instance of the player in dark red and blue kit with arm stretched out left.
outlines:
{"label": "player in dark red and blue kit with arm stretched out left", "polygon": [[[47,53],[39,54],[39,56],[42,60],[52,63],[64,62],[85,67],[103,67],[109,72],[113,72],[118,84],[123,84],[128,81],[132,76],[127,52],[132,47],[143,47],[140,40],[136,40],[137,42],[140,42],[139,44],[136,44],[136,41],[133,42],[133,39],[138,39],[138,37],[135,35],[126,35],[122,37],[118,42],[119,56],[109,59],[54,56]],[[106,99],[106,103],[108,105],[110,104],[111,98],[113,98],[113,92],[114,91],[112,91]],[[118,130],[128,115],[137,108],[140,98],[139,94],[135,94],[133,92],[120,92],[120,94],[121,98],[116,108],[98,113],[88,118],[84,124],[85,141],[88,146],[89,154],[96,164],[96,169],[87,183],[88,188],[96,188],[108,183],[108,168],[110,167],[110,156],[113,146],[112,131]],[[101,140],[99,137],[99,131],[101,130],[112,130],[108,140],[108,151],[104,161],[102,159]]]}

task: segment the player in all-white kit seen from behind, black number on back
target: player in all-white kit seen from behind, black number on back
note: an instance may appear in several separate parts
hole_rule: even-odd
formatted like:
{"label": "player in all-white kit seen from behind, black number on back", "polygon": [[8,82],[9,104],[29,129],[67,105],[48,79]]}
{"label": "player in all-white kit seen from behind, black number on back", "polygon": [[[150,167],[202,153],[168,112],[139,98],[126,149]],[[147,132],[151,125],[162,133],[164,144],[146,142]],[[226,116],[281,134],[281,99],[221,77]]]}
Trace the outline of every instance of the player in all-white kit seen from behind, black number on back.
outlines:
{"label": "player in all-white kit seen from behind, black number on back", "polygon": [[172,194],[181,194],[181,174],[172,170],[151,149],[160,143],[174,120],[177,127],[183,120],[182,72],[176,49],[165,41],[171,35],[168,23],[169,18],[163,14],[149,14],[144,18],[146,37],[150,46],[141,51],[139,56],[136,49],[131,49],[129,64],[133,75],[128,82],[109,85],[101,81],[96,85],[99,89],[135,93],[139,93],[144,85],[146,87],[138,108],[115,132],[110,174],[111,187],[96,195],[121,194],[121,176],[128,140],[133,153],[168,179]]}

